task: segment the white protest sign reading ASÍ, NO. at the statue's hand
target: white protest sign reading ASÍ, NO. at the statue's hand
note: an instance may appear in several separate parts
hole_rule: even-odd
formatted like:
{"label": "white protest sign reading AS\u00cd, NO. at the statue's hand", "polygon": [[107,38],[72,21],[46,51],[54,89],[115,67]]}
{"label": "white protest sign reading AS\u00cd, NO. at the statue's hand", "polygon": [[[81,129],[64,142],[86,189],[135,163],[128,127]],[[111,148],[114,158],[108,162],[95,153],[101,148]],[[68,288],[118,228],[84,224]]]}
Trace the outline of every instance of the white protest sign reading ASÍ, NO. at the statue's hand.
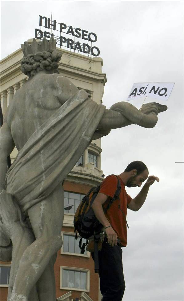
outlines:
{"label": "white protest sign reading AS\u00cd, NO. at the statue's hand", "polygon": [[134,83],[127,100],[150,96],[168,100],[175,83]]}

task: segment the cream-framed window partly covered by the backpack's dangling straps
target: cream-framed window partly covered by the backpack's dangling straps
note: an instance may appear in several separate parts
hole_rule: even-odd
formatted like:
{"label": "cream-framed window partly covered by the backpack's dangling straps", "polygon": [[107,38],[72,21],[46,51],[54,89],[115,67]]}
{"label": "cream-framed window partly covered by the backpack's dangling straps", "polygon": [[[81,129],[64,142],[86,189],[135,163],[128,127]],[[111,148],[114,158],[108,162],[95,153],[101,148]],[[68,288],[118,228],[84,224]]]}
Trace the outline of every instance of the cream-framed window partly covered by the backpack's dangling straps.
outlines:
{"label": "cream-framed window partly covered by the backpack's dangling straps", "polygon": [[[78,246],[79,240],[80,240],[80,237],[78,237],[78,239],[76,240],[75,236],[64,234],[63,235],[63,252],[80,254],[81,249]],[[86,255],[86,249],[85,249],[84,254]]]}

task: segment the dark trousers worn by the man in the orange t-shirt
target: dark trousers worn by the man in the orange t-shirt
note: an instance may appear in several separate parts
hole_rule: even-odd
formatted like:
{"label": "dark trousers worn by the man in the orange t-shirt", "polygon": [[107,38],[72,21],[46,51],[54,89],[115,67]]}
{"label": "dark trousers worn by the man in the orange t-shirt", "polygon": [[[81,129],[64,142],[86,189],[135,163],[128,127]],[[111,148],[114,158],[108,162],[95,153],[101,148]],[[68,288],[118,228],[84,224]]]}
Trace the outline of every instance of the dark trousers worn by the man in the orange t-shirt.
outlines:
{"label": "dark trousers worn by the man in the orange t-shirt", "polygon": [[[94,253],[91,253],[94,260]],[[100,291],[102,301],[122,301],[125,291],[122,249],[103,242],[99,256]]]}

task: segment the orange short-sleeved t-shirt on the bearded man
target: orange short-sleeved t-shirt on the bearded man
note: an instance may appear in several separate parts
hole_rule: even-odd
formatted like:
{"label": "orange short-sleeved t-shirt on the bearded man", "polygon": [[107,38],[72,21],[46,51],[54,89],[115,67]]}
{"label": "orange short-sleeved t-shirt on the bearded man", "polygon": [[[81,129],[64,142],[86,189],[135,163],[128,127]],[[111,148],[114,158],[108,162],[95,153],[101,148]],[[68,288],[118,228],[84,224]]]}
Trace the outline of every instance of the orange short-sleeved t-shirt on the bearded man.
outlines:
{"label": "orange short-sleeved t-shirt on the bearded man", "polygon": [[[131,201],[130,195],[126,193],[125,184],[118,177],[121,183],[121,192],[119,194],[119,199],[114,200],[111,204],[110,208],[105,213],[106,218],[110,222],[112,228],[117,233],[118,238],[120,239],[120,244],[122,247],[126,247],[127,243],[127,232],[126,232],[126,213],[127,213],[127,205]],[[114,193],[117,189],[118,179],[115,175],[108,176],[101,184],[100,193],[107,195],[108,197],[114,197]],[[109,203],[109,199],[105,201],[103,204],[103,208],[105,209]],[[124,214],[123,214],[123,213]]]}

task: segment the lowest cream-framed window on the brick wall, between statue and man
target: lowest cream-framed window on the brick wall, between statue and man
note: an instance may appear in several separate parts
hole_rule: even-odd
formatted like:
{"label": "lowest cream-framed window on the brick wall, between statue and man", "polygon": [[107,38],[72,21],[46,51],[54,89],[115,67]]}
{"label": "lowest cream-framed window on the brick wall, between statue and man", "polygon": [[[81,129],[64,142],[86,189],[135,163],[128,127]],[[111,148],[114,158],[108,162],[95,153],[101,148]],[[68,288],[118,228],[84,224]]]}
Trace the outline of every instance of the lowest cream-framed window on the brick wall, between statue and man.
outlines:
{"label": "lowest cream-framed window on the brick wall, between statue and man", "polygon": [[90,271],[82,268],[60,268],[60,289],[89,291]]}

